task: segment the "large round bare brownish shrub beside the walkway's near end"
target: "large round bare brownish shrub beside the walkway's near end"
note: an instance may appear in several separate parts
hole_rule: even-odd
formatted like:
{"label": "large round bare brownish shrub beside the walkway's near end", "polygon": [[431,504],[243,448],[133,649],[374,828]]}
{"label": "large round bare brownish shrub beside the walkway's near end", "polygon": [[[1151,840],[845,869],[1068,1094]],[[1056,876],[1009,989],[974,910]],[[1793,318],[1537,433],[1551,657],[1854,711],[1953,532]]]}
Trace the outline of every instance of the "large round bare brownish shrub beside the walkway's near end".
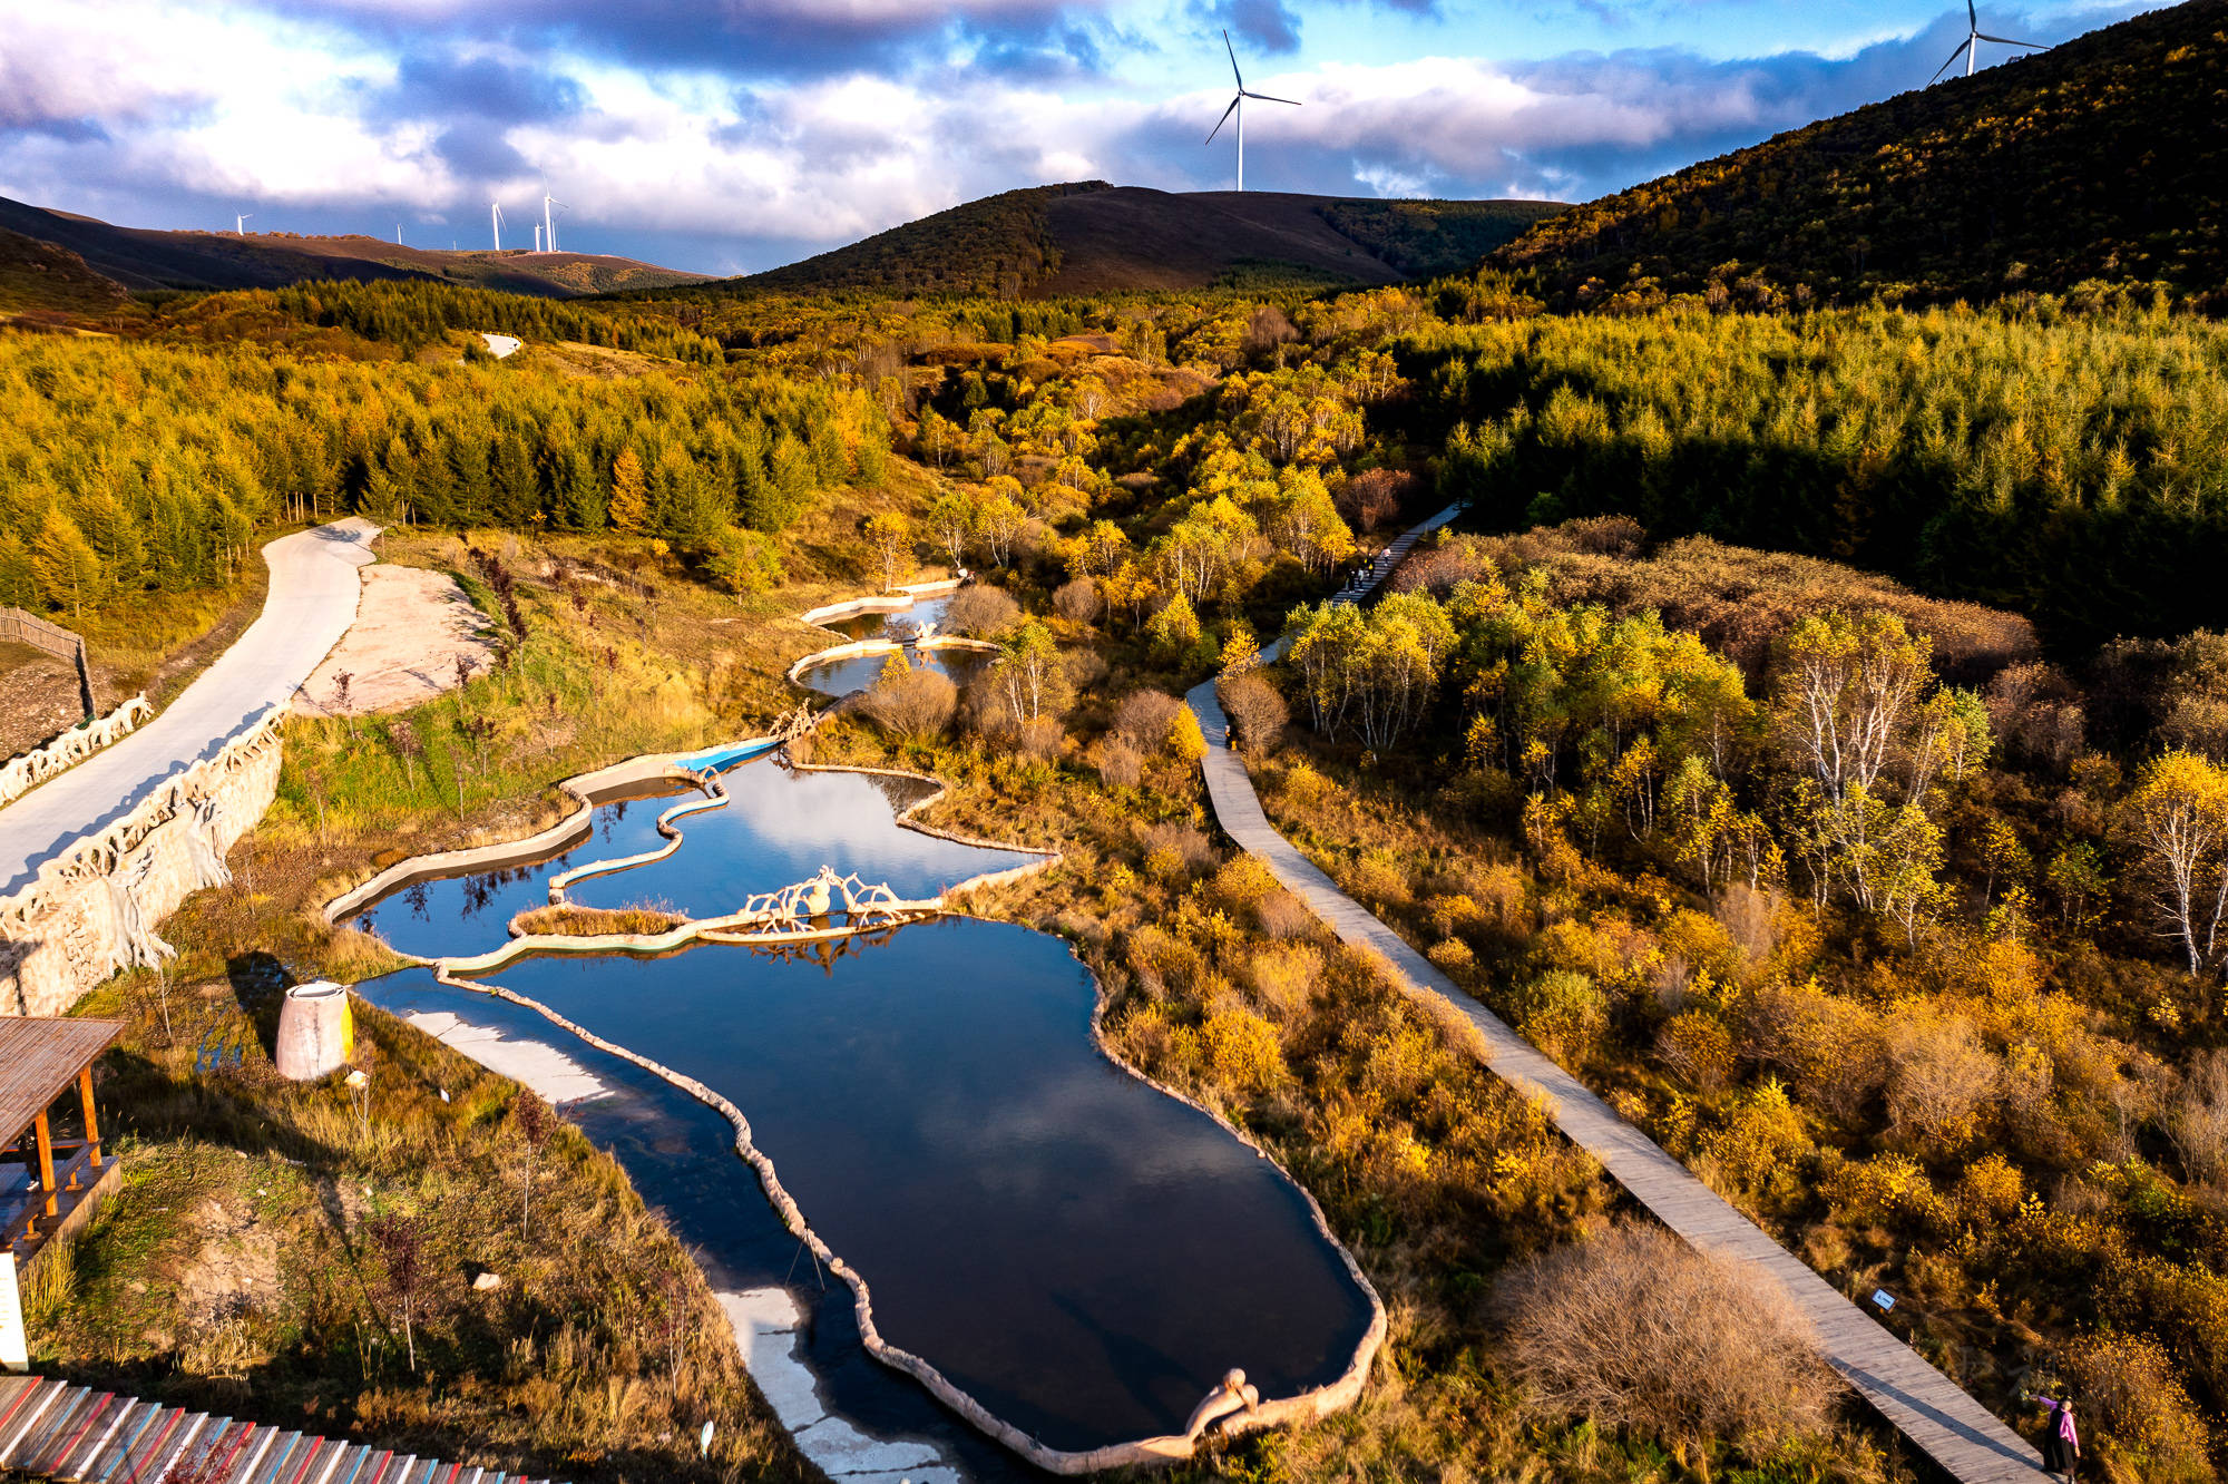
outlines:
{"label": "large round bare brownish shrub beside the walkway's near end", "polygon": [[1671,1446],[1765,1455],[1820,1433],[1838,1382],[1771,1283],[1653,1226],[1620,1226],[1502,1279],[1508,1359],[1537,1406]]}

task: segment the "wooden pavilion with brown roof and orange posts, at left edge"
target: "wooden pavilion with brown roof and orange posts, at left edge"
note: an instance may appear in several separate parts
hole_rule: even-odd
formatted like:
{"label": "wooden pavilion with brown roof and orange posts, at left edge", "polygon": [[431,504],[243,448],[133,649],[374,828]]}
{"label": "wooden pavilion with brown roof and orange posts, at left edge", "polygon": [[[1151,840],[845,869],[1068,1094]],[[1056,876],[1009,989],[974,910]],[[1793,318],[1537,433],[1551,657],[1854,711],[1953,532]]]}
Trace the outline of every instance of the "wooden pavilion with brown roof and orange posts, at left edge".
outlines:
{"label": "wooden pavilion with brown roof and orange posts, at left edge", "polygon": [[[94,1061],[123,1029],[123,1021],[0,1016],[0,1370],[27,1364],[20,1275],[85,1226],[120,1179],[120,1165],[100,1156]],[[58,1139],[58,1125],[76,1136]]]}

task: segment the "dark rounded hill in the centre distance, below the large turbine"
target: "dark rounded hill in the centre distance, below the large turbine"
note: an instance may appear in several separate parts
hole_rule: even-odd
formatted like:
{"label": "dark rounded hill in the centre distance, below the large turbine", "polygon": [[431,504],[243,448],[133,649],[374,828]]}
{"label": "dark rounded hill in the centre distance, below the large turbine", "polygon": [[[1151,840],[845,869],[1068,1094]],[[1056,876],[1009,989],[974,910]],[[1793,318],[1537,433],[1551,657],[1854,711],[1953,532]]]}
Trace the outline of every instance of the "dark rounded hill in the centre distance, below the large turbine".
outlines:
{"label": "dark rounded hill in the centre distance, below the large turbine", "polygon": [[1170,194],[1085,180],[922,216],[722,292],[1105,294],[1196,290],[1259,270],[1343,283],[1466,272],[1546,201],[1366,201],[1274,192]]}

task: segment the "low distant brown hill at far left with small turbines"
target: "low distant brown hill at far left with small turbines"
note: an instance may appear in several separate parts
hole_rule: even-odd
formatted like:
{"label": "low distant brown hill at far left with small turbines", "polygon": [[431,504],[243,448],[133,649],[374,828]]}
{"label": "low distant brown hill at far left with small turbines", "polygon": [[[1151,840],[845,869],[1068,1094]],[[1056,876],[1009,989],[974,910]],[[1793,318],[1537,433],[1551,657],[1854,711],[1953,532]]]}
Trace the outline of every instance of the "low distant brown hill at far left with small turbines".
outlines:
{"label": "low distant brown hill at far left with small turbines", "polygon": [[[76,270],[58,267],[65,256],[76,261]],[[512,294],[573,296],[697,281],[697,274],[586,252],[434,252],[374,236],[154,232],[0,198],[0,283],[38,290],[38,274],[56,285],[69,279],[71,305],[51,307],[74,307],[94,292],[78,270],[118,290],[143,292],[278,287],[307,279],[434,279]]]}

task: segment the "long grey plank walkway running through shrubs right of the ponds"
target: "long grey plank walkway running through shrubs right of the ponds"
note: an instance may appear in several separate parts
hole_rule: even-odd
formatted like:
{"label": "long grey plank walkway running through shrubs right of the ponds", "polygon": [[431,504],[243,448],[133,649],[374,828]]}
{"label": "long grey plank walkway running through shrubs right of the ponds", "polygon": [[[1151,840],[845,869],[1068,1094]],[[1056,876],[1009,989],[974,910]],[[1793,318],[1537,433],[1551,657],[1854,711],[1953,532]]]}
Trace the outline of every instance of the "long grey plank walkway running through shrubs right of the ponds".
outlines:
{"label": "long grey plank walkway running through shrubs right of the ponds", "polygon": [[[1404,539],[1444,526],[1448,519],[1453,519],[1453,510],[1435,515]],[[1370,584],[1348,588],[1339,597],[1352,602],[1388,573],[1390,566],[1386,570],[1372,568]],[[1274,660],[1281,651],[1283,642],[1279,640],[1263,651],[1263,660]],[[2041,1471],[2041,1457],[2012,1428],[1916,1350],[1880,1328],[1807,1263],[1771,1241],[1762,1228],[1742,1217],[1646,1134],[1620,1119],[1609,1103],[1593,1096],[1584,1083],[1555,1065],[1531,1041],[1524,1041],[1506,1021],[1439,974],[1399,934],[1339,891],[1337,882],[1277,833],[1277,827],[1261,811],[1261,795],[1254,793],[1245,764],[1230,751],[1230,722],[1214,695],[1214,682],[1194,686],[1185,700],[1199,713],[1199,726],[1208,738],[1203,771],[1214,818],[1232,840],[1259,856],[1277,880],[1306,902],[1330,931],[1386,960],[1408,994],[1439,996],[1459,1009],[1484,1036],[1486,1065],[1524,1092],[1544,1094],[1562,1132],[1600,1159],[1620,1185],[1631,1190],[1642,1205],[1696,1250],[1745,1263],[1778,1281],[1809,1317],[1818,1348],[1834,1370],[1847,1377],[1898,1433],[1952,1477],[1963,1484],[2043,1484],[2048,1475]]]}

